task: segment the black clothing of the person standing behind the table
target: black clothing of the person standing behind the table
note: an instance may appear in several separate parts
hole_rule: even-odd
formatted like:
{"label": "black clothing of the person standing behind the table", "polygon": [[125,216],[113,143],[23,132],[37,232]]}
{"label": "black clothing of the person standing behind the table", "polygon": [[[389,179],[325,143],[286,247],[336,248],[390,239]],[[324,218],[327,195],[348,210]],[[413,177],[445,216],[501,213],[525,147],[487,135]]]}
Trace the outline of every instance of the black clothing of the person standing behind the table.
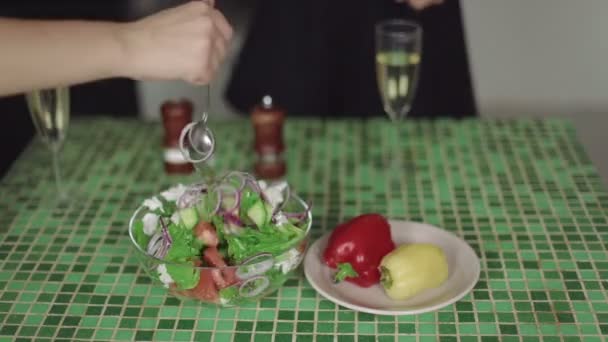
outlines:
{"label": "black clothing of the person standing behind the table", "polygon": [[290,116],[385,115],[378,93],[374,25],[422,25],[418,90],[408,117],[476,115],[458,1],[422,12],[391,0],[260,1],[226,91],[248,113],[269,94]]}

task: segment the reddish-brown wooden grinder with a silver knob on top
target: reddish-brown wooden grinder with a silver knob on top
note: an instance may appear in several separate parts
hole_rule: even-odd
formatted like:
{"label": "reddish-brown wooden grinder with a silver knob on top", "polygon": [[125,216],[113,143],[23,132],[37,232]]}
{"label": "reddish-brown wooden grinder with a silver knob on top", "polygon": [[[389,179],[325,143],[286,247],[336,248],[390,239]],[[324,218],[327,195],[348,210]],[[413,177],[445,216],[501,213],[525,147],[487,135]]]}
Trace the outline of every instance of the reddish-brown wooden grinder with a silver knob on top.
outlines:
{"label": "reddish-brown wooden grinder with a silver knob on top", "polygon": [[283,156],[284,110],[273,105],[272,98],[266,95],[262,103],[253,109],[251,120],[255,130],[256,176],[266,180],[283,178],[287,171]]}

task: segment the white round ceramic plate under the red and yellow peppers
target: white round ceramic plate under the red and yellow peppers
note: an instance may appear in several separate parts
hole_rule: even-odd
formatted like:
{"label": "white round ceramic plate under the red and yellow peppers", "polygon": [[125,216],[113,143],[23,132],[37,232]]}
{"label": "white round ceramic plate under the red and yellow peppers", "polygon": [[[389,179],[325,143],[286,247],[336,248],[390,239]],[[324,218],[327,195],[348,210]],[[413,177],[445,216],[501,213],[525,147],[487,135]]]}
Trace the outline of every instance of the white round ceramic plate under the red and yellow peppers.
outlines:
{"label": "white round ceramic plate under the red and yellow peppers", "polygon": [[448,279],[438,288],[403,301],[390,299],[381,285],[358,287],[349,282],[334,284],[334,271],[323,262],[323,251],[331,233],[315,241],[304,259],[310,284],[325,298],[355,311],[378,315],[413,315],[441,309],[469,293],[479,280],[479,258],[461,238],[424,223],[390,221],[395,244],[432,243],[443,249],[448,260]]}

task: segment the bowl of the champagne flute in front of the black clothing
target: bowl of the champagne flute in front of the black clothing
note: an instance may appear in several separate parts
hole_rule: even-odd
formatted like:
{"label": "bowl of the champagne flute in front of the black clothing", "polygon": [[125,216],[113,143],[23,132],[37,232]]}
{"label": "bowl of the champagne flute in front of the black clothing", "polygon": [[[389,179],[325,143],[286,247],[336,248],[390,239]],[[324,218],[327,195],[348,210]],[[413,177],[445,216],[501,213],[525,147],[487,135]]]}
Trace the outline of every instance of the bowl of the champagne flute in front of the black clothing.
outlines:
{"label": "bowl of the champagne flute in front of the black clothing", "polygon": [[412,21],[385,20],[376,25],[376,77],[384,110],[392,121],[412,107],[418,83],[422,28]]}

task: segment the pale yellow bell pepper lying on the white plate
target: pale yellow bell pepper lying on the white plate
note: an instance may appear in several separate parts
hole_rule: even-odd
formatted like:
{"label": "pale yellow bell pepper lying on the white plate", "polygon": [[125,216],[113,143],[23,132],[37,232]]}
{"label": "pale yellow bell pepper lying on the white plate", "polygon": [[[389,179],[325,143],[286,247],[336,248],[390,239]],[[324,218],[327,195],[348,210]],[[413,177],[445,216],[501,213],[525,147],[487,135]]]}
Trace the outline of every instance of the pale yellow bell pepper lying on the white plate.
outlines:
{"label": "pale yellow bell pepper lying on the white plate", "polygon": [[392,299],[411,298],[448,278],[443,250],[432,244],[401,245],[380,262],[380,283]]}

